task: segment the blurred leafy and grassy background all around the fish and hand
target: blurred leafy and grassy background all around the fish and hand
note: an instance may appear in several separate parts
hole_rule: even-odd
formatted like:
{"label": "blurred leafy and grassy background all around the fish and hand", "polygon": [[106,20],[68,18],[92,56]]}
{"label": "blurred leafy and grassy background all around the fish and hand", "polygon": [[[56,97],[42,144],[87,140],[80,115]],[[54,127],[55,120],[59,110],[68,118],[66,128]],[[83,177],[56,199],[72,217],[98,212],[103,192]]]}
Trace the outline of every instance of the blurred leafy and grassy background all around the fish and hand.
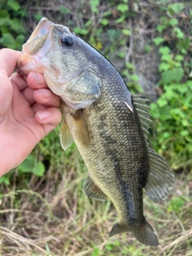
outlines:
{"label": "blurred leafy and grassy background all around the fish and hand", "polygon": [[145,215],[157,248],[131,234],[108,238],[117,213],[82,192],[86,166],[64,152],[59,127],[0,178],[2,255],[192,255],[192,4],[182,0],[0,0],[0,47],[22,50],[42,17],[70,26],[150,98],[150,144],[174,170],[170,197]]}

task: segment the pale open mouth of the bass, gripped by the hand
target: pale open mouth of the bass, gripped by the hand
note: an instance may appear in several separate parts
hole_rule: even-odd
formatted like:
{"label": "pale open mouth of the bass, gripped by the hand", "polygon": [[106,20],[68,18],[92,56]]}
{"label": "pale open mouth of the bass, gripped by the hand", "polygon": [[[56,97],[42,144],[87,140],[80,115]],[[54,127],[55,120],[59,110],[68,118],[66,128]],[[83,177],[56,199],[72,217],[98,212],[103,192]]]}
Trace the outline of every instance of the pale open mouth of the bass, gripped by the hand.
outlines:
{"label": "pale open mouth of the bass, gripped by the hand", "polygon": [[16,71],[19,74],[29,74],[31,70],[43,73],[40,64],[51,47],[53,25],[47,18],[38,22],[28,41],[22,46],[22,54],[18,58]]}

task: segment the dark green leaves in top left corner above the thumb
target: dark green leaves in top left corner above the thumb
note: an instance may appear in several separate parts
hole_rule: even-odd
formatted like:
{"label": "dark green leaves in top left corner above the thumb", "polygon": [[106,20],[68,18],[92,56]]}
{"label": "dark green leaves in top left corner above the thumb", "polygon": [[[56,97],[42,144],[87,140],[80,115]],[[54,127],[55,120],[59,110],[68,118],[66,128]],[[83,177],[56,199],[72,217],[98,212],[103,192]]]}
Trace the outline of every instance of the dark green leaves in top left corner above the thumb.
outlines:
{"label": "dark green leaves in top left corner above the thumb", "polygon": [[26,30],[21,22],[25,16],[26,10],[17,0],[0,2],[0,46],[21,49],[26,38]]}

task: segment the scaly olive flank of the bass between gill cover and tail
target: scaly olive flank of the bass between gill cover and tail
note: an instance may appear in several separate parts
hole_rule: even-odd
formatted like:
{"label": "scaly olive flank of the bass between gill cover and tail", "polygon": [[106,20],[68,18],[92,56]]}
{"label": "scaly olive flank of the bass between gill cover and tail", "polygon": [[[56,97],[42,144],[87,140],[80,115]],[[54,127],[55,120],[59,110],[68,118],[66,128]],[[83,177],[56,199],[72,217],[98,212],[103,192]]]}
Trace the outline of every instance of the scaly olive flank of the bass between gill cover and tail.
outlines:
{"label": "scaly olive flank of the bass between gill cover and tail", "polygon": [[[123,214],[126,216],[130,216],[129,204],[127,204],[127,189],[123,191],[124,187],[121,182],[126,181],[128,188],[134,188],[132,202],[134,202],[135,210],[133,214],[136,213],[138,216],[136,218],[134,215],[131,218],[139,222],[140,219],[143,219],[142,187],[146,185],[149,170],[145,160],[148,159],[146,142],[139,123],[135,122],[135,118],[138,120],[137,113],[132,114],[124,104],[124,102],[130,102],[131,94],[114,67],[111,66],[111,69],[116,74],[116,78],[114,74],[104,74],[105,82],[102,84],[100,100],[82,111],[89,127],[90,146],[83,146],[81,141],[76,138],[76,134],[73,134],[73,131],[72,135],[82,158],[86,162],[90,177],[112,200],[116,209],[125,209]],[[71,116],[65,112],[63,114],[66,117],[66,122],[70,122],[68,118]],[[103,120],[103,115],[106,116],[105,120]],[[113,125],[111,126],[111,124]],[[73,125],[69,123],[69,126]],[[98,129],[102,127],[102,130],[99,129],[99,133],[95,133],[95,127],[97,126]],[[121,132],[117,133],[117,130]],[[140,158],[142,159],[139,161]],[[145,160],[144,166],[143,159]],[[143,171],[139,172],[139,168]],[[115,186],[118,187],[118,190],[114,190]],[[120,210],[118,211],[120,212]]]}

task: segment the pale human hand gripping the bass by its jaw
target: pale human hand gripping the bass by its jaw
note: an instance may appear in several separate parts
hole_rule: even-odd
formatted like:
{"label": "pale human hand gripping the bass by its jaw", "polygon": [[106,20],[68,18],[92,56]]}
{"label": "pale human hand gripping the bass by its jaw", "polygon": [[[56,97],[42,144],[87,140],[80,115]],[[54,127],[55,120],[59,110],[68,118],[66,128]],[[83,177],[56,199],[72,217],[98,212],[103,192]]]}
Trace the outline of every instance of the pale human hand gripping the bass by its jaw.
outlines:
{"label": "pale human hand gripping the bass by its jaw", "polygon": [[0,50],[0,177],[18,166],[62,118],[60,98],[42,74],[13,74],[20,54]]}

